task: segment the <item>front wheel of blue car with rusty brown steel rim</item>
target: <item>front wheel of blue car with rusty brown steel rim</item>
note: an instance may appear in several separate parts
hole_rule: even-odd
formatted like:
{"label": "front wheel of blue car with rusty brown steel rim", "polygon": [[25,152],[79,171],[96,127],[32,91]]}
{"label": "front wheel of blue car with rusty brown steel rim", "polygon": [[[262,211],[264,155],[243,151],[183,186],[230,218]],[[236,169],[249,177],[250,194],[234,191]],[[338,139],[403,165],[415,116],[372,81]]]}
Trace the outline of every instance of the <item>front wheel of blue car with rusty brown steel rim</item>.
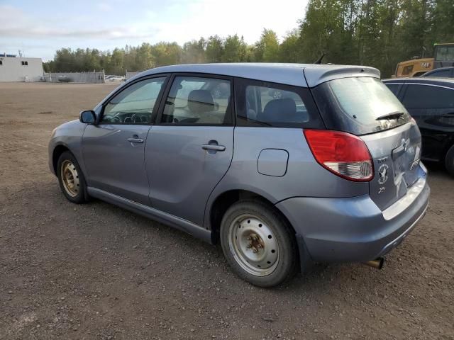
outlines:
{"label": "front wheel of blue car with rusty brown steel rim", "polygon": [[77,204],[87,201],[87,184],[84,174],[71,152],[65,151],[58,158],[57,177],[60,189],[67,200]]}

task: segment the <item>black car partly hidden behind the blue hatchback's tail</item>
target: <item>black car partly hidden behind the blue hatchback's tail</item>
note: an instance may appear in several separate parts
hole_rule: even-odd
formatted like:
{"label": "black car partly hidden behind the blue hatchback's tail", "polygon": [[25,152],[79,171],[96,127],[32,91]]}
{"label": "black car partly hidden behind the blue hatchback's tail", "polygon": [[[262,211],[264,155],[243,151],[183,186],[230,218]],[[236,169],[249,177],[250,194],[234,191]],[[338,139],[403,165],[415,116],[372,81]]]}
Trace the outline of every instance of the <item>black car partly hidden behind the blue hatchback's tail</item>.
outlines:
{"label": "black car partly hidden behind the blue hatchback's tail", "polygon": [[454,80],[423,77],[383,82],[418,123],[422,159],[443,162],[454,176]]}

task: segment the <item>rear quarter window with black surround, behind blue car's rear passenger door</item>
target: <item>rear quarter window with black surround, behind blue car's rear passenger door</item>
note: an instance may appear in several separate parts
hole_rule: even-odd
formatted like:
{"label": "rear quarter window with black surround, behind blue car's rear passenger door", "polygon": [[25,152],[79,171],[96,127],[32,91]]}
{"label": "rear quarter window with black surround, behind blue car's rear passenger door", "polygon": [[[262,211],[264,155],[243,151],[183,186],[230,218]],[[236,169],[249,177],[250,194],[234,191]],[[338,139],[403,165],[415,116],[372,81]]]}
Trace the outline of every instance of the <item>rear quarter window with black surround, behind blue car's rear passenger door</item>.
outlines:
{"label": "rear quarter window with black surround, behind blue car's rear passenger door", "polygon": [[238,79],[236,91],[239,125],[321,127],[309,89]]}

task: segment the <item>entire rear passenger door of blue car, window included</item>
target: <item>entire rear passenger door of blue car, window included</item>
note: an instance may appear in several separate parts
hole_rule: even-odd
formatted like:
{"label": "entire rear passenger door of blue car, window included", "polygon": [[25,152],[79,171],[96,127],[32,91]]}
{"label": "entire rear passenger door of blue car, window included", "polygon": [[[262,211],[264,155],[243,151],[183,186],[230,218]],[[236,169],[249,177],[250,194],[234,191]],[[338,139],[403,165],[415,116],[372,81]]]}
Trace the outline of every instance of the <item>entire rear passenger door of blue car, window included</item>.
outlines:
{"label": "entire rear passenger door of blue car, window included", "polygon": [[228,77],[176,74],[168,88],[145,147],[150,202],[202,225],[206,201],[233,156],[233,84]]}

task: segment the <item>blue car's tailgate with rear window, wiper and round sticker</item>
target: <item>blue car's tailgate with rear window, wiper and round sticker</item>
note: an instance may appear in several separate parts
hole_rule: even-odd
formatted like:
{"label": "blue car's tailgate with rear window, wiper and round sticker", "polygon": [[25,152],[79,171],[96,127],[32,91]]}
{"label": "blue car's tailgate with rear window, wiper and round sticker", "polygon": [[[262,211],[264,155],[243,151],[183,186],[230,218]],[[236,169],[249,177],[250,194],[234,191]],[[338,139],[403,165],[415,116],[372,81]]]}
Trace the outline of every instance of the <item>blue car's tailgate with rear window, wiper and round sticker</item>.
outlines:
{"label": "blue car's tailgate with rear window, wiper and round sticker", "polygon": [[313,90],[327,128],[359,135],[373,159],[370,197],[382,210],[405,196],[420,176],[421,134],[380,79],[343,78]]}

